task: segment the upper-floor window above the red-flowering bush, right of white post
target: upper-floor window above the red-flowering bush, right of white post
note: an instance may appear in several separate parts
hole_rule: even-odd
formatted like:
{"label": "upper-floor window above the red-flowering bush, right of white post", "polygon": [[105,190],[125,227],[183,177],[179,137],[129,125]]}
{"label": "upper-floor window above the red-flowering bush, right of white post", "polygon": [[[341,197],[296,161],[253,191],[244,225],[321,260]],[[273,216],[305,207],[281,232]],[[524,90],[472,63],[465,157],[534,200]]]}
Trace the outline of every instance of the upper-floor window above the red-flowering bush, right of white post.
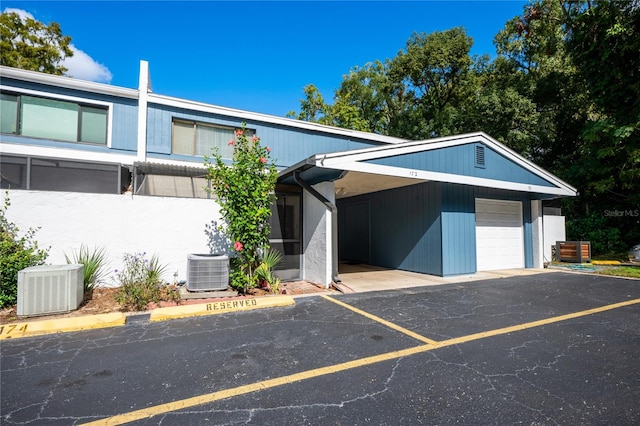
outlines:
{"label": "upper-floor window above the red-flowering bush, right of white post", "polygon": [[[217,148],[223,158],[233,157],[233,146],[229,141],[235,139],[236,129],[221,127],[193,121],[174,120],[172,135],[172,152],[184,155],[211,155]],[[248,137],[255,131],[245,129]]]}

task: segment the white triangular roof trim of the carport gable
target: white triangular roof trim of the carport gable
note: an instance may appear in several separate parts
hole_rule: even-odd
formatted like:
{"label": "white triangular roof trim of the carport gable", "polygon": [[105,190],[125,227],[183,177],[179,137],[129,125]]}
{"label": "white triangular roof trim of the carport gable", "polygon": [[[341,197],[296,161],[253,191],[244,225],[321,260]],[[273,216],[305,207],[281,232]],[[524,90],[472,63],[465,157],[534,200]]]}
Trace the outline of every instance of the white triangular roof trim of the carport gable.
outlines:
{"label": "white triangular roof trim of the carport gable", "polygon": [[340,151],[340,152],[332,152],[332,153],[323,153],[313,155],[306,160],[303,160],[297,164],[294,164],[291,167],[281,171],[279,175],[284,177],[293,173],[296,170],[308,169],[310,167],[320,167],[326,169],[335,169],[335,170],[351,170],[351,171],[359,171],[359,172],[369,172],[369,173],[381,173],[381,174],[389,174],[389,175],[397,175],[399,170],[404,170],[398,167],[391,166],[382,166],[377,164],[365,163],[365,161],[392,157],[403,154],[411,154],[416,152],[429,151],[434,149],[447,148],[457,145],[464,145],[470,143],[482,143],[491,149],[495,150],[500,155],[503,155],[505,158],[513,161],[519,166],[523,167],[525,170],[539,176],[540,178],[550,182],[555,185],[556,188],[552,187],[539,187],[535,185],[528,184],[505,184],[504,181],[494,181],[490,179],[484,178],[474,178],[461,176],[459,179],[454,178],[457,176],[455,174],[450,173],[439,173],[439,172],[416,172],[416,179],[421,180],[437,180],[437,181],[453,181],[454,183],[467,183],[471,185],[477,186],[488,186],[504,189],[513,189],[520,190],[526,192],[542,192],[542,193],[550,193],[555,195],[563,195],[563,196],[575,196],[578,191],[576,188],[572,187],[568,183],[564,182],[562,179],[558,178],[554,174],[548,172],[532,161],[527,160],[522,157],[515,151],[496,141],[489,135],[484,132],[475,132],[475,133],[467,133],[462,135],[455,136],[447,136],[435,139],[427,139],[422,141],[413,141],[413,142],[404,142],[402,144],[390,145],[390,146],[377,146],[372,148],[363,148],[356,149],[350,151]]}

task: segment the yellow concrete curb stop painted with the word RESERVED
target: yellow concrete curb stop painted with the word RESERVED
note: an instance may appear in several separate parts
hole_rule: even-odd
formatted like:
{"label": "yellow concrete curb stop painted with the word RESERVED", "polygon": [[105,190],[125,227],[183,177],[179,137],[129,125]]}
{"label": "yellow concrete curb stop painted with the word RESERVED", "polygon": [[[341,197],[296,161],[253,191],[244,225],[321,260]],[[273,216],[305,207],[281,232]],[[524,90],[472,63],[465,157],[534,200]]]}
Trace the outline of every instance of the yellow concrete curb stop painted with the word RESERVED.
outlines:
{"label": "yellow concrete curb stop painted with the word RESERVED", "polygon": [[291,296],[271,296],[253,299],[221,300],[193,305],[178,305],[154,309],[151,311],[149,320],[166,321],[202,315],[226,314],[236,311],[290,306],[295,305],[295,303],[295,300]]}

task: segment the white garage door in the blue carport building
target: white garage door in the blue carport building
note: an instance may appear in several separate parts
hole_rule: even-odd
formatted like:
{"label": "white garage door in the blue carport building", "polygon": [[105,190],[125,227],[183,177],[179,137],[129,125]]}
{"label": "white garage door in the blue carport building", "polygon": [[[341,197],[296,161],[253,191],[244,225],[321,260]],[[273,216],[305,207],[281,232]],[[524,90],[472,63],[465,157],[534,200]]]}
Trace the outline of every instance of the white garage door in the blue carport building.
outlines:
{"label": "white garage door in the blue carport building", "polygon": [[476,199],[477,270],[524,267],[522,203]]}

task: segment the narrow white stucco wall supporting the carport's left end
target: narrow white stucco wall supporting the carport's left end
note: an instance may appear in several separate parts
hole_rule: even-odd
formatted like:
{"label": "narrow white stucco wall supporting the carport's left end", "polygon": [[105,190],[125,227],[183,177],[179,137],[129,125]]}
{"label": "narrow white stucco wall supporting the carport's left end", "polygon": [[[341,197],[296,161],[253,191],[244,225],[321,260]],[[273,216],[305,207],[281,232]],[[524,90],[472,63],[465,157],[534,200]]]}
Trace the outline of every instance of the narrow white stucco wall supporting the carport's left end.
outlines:
{"label": "narrow white stucco wall supporting the carport's left end", "polygon": [[[331,203],[335,203],[333,182],[323,182],[313,188]],[[332,281],[331,211],[308,192],[303,196],[302,279],[329,286]]]}

